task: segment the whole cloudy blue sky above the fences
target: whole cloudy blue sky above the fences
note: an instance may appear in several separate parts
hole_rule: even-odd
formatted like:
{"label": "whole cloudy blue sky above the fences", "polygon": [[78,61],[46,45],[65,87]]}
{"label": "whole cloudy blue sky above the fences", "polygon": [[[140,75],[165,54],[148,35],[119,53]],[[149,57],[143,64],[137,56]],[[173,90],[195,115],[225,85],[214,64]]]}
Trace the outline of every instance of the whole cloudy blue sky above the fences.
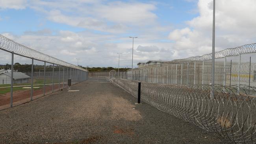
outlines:
{"label": "whole cloudy blue sky above the fences", "polygon": [[[82,66],[211,53],[212,0],[0,0],[0,34]],[[256,42],[256,0],[216,0],[215,50]],[[10,57],[0,50],[0,64]],[[19,61],[19,59],[16,59]],[[29,60],[20,59],[20,63]]]}

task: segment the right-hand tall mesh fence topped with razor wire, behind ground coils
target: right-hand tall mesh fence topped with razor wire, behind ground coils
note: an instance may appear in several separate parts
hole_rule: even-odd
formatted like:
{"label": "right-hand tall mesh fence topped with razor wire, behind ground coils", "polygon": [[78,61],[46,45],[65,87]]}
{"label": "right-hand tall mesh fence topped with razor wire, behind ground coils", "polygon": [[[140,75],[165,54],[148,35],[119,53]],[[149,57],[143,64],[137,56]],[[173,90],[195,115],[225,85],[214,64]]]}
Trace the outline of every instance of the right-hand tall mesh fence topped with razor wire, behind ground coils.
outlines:
{"label": "right-hand tall mesh fence topped with razor wire, behind ground coils", "polygon": [[[256,44],[215,52],[215,84],[256,87]],[[211,54],[128,71],[128,79],[178,85],[211,85]]]}

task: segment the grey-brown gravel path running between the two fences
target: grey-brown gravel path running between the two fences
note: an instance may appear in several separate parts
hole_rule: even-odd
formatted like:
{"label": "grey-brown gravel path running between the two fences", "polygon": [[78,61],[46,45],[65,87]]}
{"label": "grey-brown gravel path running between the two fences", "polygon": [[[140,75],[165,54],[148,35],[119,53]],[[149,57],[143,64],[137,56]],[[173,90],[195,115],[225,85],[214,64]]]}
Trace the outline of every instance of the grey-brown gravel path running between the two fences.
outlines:
{"label": "grey-brown gravel path running between the two fences", "polygon": [[0,143],[228,143],[147,103],[135,105],[111,83],[89,82],[0,111]]}

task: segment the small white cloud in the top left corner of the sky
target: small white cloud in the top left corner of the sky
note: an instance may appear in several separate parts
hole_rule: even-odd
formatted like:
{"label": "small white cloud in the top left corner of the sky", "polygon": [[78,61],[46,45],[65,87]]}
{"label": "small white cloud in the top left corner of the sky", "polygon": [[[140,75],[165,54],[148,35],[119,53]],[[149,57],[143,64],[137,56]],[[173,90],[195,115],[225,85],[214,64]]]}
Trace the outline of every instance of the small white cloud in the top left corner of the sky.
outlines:
{"label": "small white cloud in the top left corner of the sky", "polygon": [[0,9],[25,9],[27,0],[0,0]]}

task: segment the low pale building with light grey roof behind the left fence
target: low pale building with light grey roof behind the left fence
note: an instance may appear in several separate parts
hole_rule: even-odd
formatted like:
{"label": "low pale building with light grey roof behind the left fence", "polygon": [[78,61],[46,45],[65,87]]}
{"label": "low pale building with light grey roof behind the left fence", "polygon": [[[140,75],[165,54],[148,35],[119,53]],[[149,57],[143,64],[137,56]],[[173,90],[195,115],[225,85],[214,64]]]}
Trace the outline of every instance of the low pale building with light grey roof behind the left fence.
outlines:
{"label": "low pale building with light grey roof behind the left fence", "polygon": [[[13,70],[13,83],[28,83],[30,76]],[[0,70],[0,85],[11,84],[11,70]]]}

